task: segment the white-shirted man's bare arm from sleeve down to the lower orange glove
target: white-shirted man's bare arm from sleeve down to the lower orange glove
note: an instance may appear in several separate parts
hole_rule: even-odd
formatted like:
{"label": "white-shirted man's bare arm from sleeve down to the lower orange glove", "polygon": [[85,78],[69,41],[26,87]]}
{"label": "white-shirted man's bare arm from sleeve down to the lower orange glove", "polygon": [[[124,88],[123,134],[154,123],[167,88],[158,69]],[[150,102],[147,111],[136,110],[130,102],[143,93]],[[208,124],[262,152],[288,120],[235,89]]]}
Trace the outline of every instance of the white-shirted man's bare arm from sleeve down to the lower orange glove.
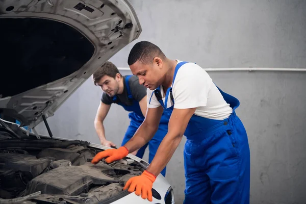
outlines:
{"label": "white-shirted man's bare arm from sleeve down to the lower orange glove", "polygon": [[148,172],[157,176],[165,168],[174,154],[175,149],[179,146],[188,122],[195,110],[196,108],[173,109],[169,120],[168,133],[164,137],[154,159],[147,168]]}

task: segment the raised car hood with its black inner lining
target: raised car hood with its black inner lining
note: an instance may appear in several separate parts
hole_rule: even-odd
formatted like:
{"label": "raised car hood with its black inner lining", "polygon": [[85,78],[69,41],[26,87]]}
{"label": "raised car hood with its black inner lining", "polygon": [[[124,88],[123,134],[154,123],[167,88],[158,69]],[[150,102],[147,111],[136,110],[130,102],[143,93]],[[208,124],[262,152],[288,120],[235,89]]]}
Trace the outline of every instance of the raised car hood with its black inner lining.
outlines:
{"label": "raised car hood with its black inner lining", "polygon": [[0,28],[0,114],[30,128],[142,31],[126,0],[0,1]]}

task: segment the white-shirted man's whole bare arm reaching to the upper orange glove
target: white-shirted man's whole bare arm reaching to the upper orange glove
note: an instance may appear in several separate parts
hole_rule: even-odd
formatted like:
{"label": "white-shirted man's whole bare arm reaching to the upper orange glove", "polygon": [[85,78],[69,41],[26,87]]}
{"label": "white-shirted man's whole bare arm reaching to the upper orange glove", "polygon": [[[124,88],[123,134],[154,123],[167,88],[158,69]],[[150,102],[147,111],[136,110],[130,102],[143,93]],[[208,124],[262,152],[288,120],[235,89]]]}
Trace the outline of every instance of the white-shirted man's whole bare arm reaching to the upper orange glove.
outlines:
{"label": "white-shirted man's whole bare arm reaching to the upper orange glove", "polygon": [[139,126],[134,136],[124,146],[133,152],[148,143],[158,130],[158,126],[163,114],[163,107],[147,109],[145,119]]}

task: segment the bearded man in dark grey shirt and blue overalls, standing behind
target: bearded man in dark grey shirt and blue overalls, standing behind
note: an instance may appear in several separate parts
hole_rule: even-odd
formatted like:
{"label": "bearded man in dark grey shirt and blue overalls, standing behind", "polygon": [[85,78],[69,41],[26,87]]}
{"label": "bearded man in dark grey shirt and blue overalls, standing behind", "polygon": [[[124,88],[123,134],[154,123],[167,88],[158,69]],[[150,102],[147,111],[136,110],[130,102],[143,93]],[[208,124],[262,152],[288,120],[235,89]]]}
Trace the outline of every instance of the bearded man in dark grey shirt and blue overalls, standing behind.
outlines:
{"label": "bearded man in dark grey shirt and blue overalls, standing behind", "polygon": [[[139,84],[138,78],[133,75],[122,76],[118,68],[111,62],[106,62],[99,67],[92,75],[94,85],[100,86],[103,90],[100,104],[94,120],[94,127],[102,145],[115,147],[116,145],[106,139],[105,128],[103,125],[112,104],[122,106],[129,113],[131,120],[129,127],[125,132],[121,145],[129,141],[138,127],[144,120],[147,110],[146,88]],[[166,114],[163,115],[158,130],[154,137],[146,144],[131,154],[142,158],[144,151],[149,146],[149,163],[154,158],[158,146],[167,134],[169,118]],[[108,161],[108,160],[107,160]],[[166,167],[161,171],[165,176]]]}

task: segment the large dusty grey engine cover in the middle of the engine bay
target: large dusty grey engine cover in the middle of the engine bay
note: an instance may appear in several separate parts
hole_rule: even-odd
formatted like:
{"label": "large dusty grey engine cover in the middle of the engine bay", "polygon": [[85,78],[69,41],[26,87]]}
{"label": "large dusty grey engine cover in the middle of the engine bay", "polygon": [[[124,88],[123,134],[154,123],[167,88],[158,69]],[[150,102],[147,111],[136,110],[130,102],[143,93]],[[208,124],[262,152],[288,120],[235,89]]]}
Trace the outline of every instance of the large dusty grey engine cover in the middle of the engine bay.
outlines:
{"label": "large dusty grey engine cover in the middle of the engine bay", "polygon": [[[42,194],[79,195],[87,193],[93,185],[119,183],[122,175],[132,171],[114,169],[101,162],[96,165],[86,163],[81,166],[61,166],[45,172],[29,182],[25,194],[41,191]],[[139,173],[140,171],[138,171],[132,173]]]}

